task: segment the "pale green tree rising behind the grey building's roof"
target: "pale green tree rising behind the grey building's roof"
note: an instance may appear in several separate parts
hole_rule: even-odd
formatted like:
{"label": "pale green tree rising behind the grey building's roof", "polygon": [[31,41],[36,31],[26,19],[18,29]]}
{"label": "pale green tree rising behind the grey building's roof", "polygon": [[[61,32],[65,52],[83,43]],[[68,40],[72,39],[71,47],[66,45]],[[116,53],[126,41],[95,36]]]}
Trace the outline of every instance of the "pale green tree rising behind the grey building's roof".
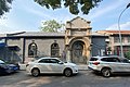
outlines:
{"label": "pale green tree rising behind the grey building's roof", "polygon": [[60,24],[55,20],[52,20],[43,22],[40,29],[42,32],[58,32],[62,26],[64,26],[64,24]]}

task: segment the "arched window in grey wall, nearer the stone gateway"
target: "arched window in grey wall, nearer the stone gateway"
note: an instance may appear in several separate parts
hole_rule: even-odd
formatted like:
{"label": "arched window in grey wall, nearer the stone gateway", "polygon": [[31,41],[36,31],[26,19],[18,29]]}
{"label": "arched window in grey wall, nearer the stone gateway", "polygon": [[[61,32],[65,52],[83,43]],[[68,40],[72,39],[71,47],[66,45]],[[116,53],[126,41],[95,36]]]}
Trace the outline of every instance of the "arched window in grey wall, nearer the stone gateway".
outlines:
{"label": "arched window in grey wall, nearer the stone gateway", "polygon": [[60,47],[56,42],[51,45],[51,57],[60,57]]}

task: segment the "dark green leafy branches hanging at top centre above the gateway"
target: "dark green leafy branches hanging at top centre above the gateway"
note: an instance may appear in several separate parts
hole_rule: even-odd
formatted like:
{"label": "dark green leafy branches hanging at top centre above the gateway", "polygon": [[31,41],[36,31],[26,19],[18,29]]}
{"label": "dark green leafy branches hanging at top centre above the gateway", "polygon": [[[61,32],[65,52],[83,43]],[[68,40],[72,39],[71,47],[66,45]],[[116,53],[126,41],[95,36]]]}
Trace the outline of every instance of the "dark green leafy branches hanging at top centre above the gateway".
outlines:
{"label": "dark green leafy branches hanging at top centre above the gateway", "polygon": [[65,8],[69,8],[72,14],[78,14],[79,8],[83,14],[88,14],[101,1],[103,0],[35,0],[41,7],[46,7],[47,9],[52,8],[53,10],[62,8],[63,2]]}

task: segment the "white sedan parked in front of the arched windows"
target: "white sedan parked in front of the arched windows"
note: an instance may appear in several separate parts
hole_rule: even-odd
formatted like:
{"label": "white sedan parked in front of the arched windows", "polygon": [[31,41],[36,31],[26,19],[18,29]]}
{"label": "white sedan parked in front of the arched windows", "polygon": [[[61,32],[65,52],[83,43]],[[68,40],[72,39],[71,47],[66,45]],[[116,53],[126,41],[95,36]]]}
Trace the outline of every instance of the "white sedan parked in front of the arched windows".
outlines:
{"label": "white sedan parked in front of the arched windows", "polygon": [[68,77],[73,74],[78,74],[76,64],[64,63],[58,58],[40,58],[29,62],[26,65],[26,71],[32,76],[38,76],[39,74],[64,74]]}

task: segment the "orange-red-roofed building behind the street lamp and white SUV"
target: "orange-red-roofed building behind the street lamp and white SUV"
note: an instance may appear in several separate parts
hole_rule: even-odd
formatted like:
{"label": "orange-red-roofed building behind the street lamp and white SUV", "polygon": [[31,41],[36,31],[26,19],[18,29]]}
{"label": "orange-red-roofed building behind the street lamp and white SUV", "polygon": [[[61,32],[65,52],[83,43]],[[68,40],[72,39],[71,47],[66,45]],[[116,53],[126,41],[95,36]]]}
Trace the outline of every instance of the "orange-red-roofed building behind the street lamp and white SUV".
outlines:
{"label": "orange-red-roofed building behind the street lamp and white SUV", "polygon": [[[110,54],[120,55],[120,40],[119,40],[119,30],[99,30],[96,33],[107,35],[108,38],[106,39],[107,42],[107,50]],[[120,30],[121,35],[121,46],[122,52],[126,54],[130,51],[130,30]]]}

